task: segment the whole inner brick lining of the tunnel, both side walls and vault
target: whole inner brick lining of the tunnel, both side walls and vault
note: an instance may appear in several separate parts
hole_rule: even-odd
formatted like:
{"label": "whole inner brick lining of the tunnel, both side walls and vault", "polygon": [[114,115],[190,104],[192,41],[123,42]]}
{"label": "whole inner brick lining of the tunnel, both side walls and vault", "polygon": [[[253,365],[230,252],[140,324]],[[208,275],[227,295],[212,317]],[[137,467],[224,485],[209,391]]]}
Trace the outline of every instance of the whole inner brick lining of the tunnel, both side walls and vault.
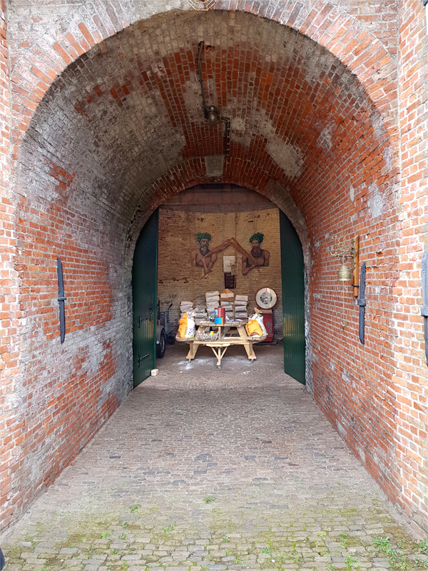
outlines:
{"label": "whole inner brick lining of the tunnel, both side walls and vault", "polygon": [[[212,177],[205,157],[222,155],[223,136],[203,118],[201,40],[207,103],[232,121],[230,156]],[[18,512],[130,390],[136,238],[165,198],[208,182],[263,193],[295,224],[307,265],[308,386],[397,497],[388,391],[397,256],[391,134],[335,56],[251,14],[154,16],[68,66],[36,108],[16,171],[25,316],[17,423],[27,434],[12,483]],[[362,236],[371,298],[364,347],[350,288],[342,294],[330,257],[342,233]],[[67,296],[63,345],[56,256]]]}

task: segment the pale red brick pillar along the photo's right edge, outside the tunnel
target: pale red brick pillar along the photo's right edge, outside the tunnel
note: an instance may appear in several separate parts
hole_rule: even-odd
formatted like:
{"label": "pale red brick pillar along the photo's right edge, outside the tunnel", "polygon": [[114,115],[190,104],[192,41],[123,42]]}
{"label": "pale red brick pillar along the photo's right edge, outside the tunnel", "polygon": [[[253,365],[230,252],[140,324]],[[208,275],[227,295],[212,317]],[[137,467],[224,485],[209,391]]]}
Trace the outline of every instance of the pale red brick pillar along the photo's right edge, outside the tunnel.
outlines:
{"label": "pale red brick pillar along the photo's right edge, outside the tunnel", "polygon": [[422,0],[399,7],[402,230],[396,295],[397,460],[407,514],[428,530],[428,370],[421,262],[428,251],[428,35]]}

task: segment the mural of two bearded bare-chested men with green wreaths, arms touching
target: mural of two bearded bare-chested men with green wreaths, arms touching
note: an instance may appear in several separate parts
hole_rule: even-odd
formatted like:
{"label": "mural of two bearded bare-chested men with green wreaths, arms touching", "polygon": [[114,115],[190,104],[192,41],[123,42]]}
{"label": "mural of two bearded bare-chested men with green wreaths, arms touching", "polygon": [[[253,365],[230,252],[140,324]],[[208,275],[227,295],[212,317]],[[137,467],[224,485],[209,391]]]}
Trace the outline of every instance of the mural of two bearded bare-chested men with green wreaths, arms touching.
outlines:
{"label": "mural of two bearded bare-chested men with green wreaths, arms touching", "polygon": [[263,242],[264,234],[256,232],[250,238],[252,246],[251,252],[248,253],[235,238],[225,240],[219,246],[215,246],[210,250],[211,235],[207,232],[198,232],[196,240],[199,243],[199,249],[192,252],[192,266],[203,268],[203,276],[206,276],[213,269],[215,261],[218,258],[218,252],[225,250],[228,246],[232,246],[240,253],[242,258],[242,272],[246,276],[250,270],[254,268],[269,266],[270,252],[262,250],[260,244]]}

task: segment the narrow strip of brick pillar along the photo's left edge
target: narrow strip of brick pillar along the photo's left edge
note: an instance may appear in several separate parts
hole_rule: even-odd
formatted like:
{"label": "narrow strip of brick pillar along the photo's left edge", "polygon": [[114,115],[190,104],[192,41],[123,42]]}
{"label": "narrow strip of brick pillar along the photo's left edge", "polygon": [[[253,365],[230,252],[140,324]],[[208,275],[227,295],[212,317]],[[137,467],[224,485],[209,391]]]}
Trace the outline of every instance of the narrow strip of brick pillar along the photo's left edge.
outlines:
{"label": "narrow strip of brick pillar along the photo's left edge", "polygon": [[9,185],[9,63],[6,4],[0,0],[0,529],[11,521],[11,474],[17,432],[14,395],[18,368],[14,208]]}

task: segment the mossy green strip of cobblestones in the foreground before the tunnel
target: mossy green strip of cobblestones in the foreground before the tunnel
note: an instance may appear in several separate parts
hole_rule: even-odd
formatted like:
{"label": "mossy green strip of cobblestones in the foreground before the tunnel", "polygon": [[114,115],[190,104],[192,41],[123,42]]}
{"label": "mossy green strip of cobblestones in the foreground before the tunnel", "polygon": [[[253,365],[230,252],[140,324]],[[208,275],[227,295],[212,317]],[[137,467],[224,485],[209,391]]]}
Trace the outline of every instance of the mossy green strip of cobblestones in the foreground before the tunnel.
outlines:
{"label": "mossy green strip of cobblestones in the foreground before the tunnel", "polygon": [[287,512],[283,525],[257,515],[237,522],[214,508],[202,530],[155,506],[132,517],[88,515],[56,533],[40,523],[6,545],[5,571],[428,570],[428,541],[412,540],[382,507]]}

